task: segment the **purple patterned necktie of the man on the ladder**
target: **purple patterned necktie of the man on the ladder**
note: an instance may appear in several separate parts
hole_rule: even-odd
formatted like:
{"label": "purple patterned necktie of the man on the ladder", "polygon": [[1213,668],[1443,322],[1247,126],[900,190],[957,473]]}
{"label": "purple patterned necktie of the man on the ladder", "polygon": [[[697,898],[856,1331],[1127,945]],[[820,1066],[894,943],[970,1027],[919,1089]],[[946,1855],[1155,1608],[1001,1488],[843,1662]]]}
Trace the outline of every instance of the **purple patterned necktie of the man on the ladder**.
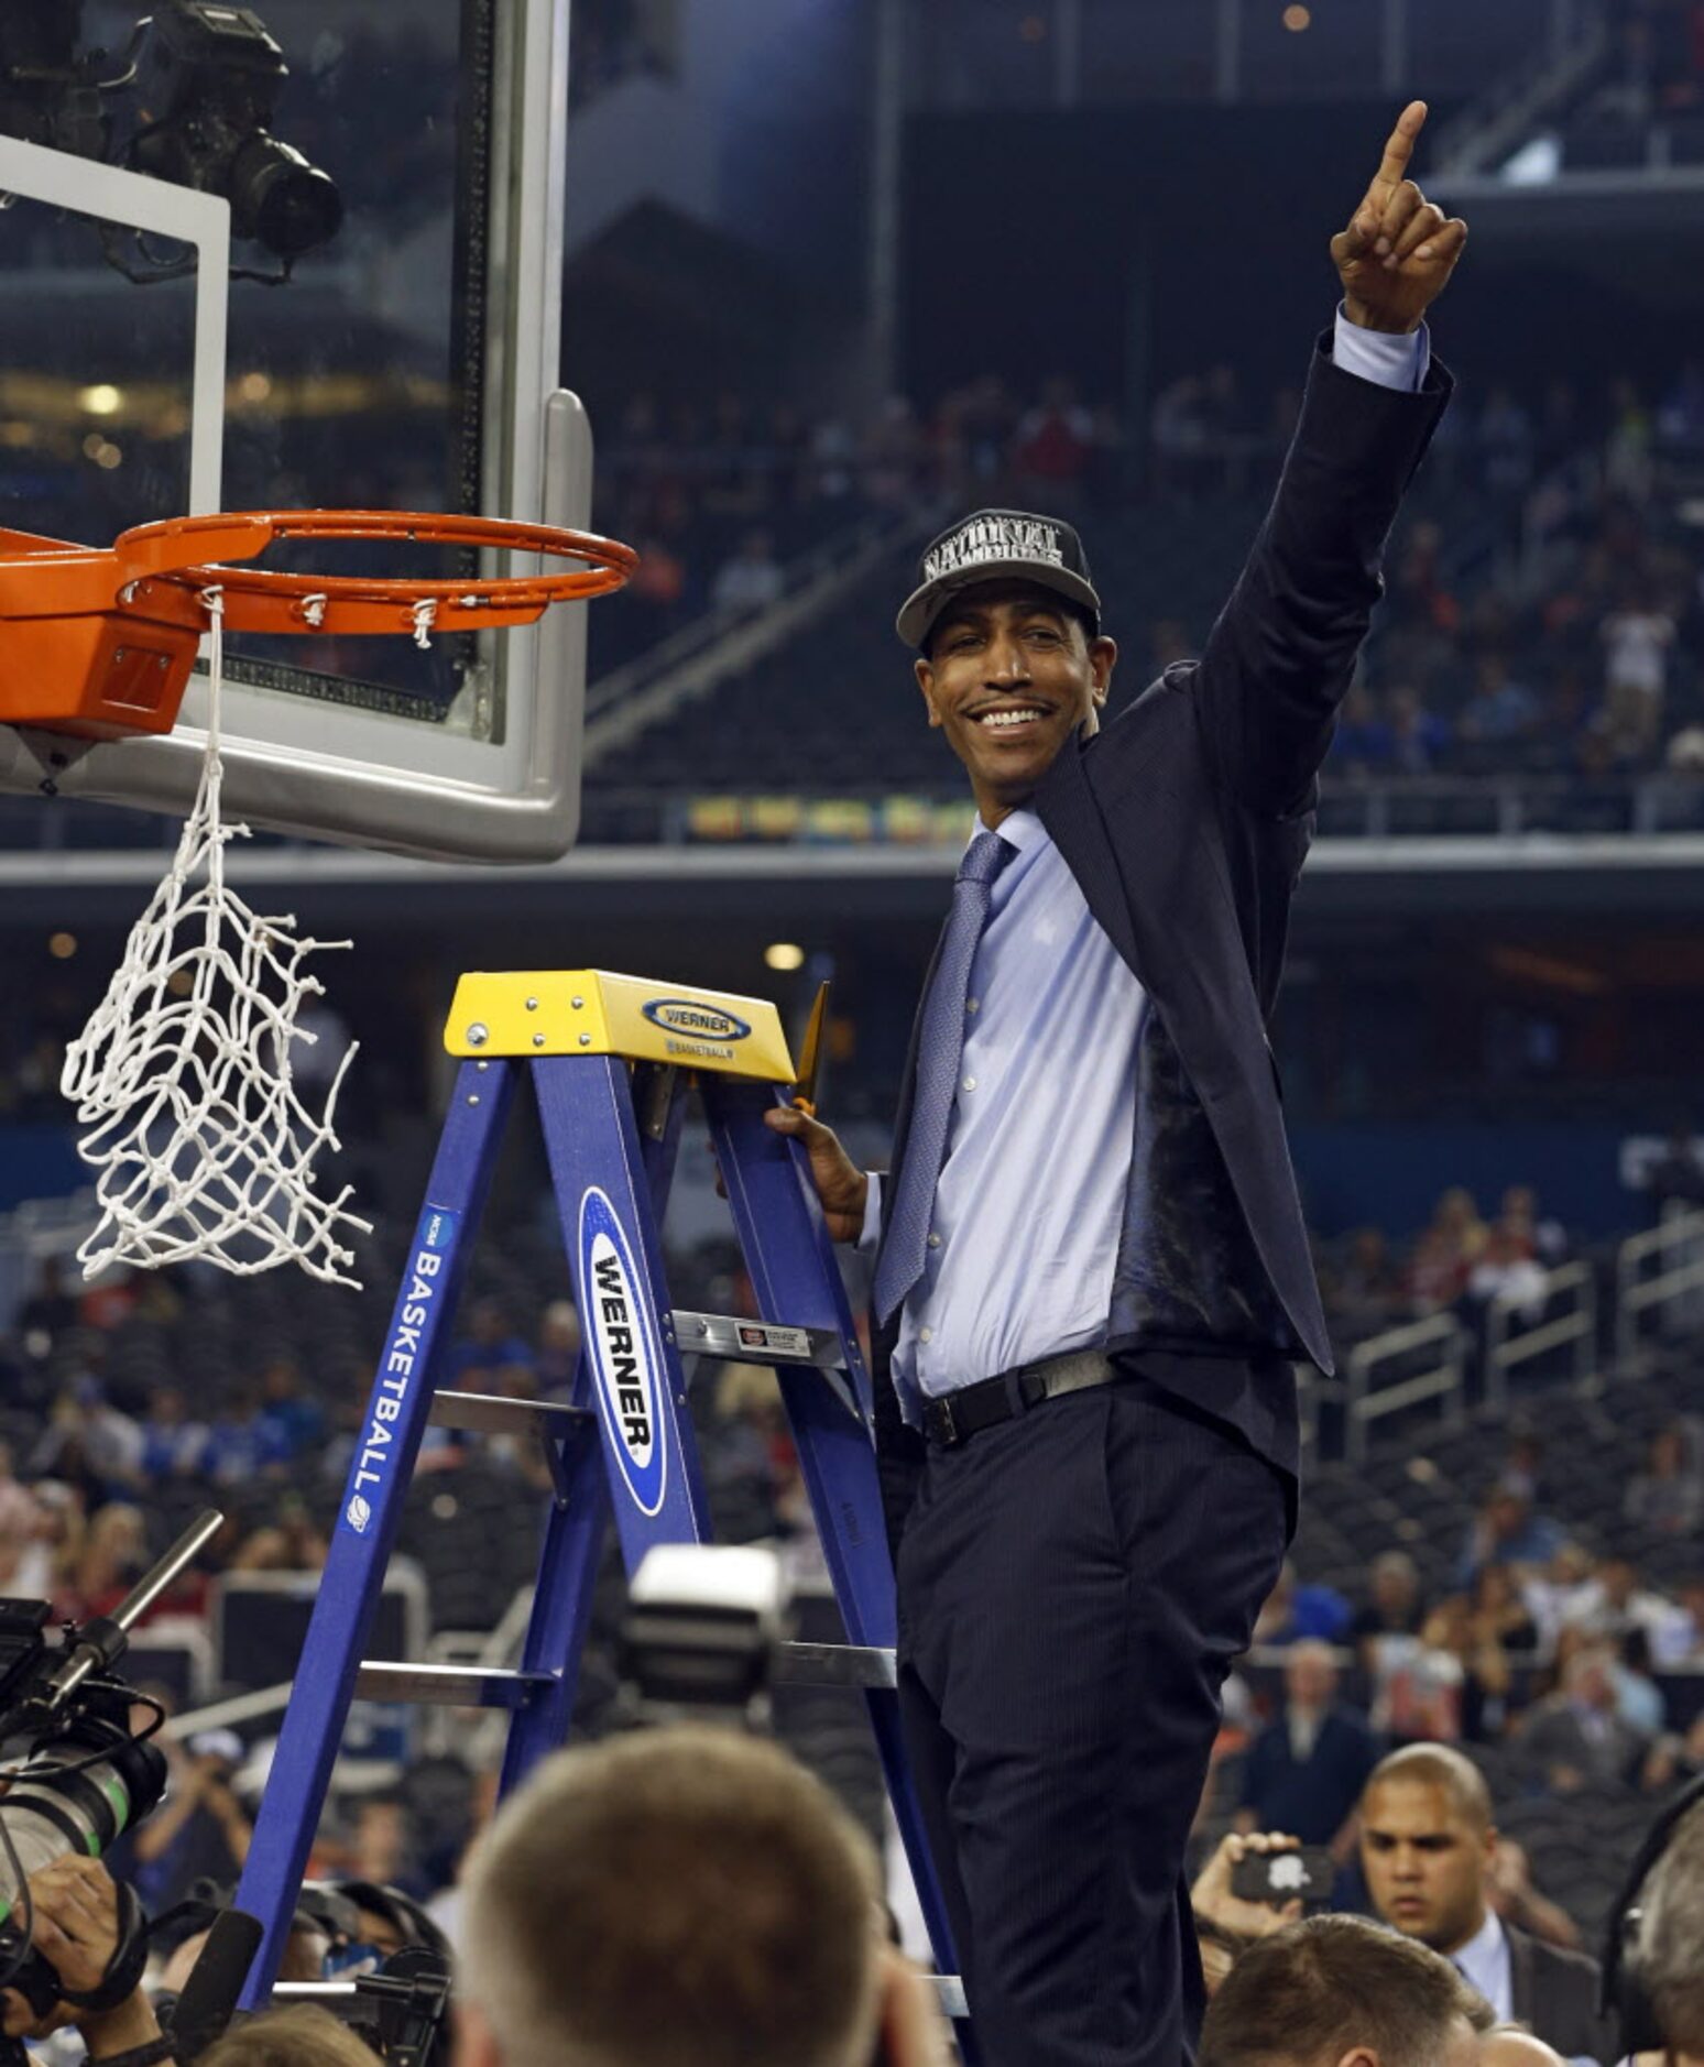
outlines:
{"label": "purple patterned necktie of the man on the ladder", "polygon": [[906,1160],[887,1217],[887,1238],[875,1271],[875,1315],[887,1321],[922,1277],[929,1222],[935,1217],[935,1184],[947,1155],[947,1124],[953,1116],[957,1067],[964,1054],[964,1005],[976,943],[988,924],[995,876],[1017,850],[999,833],[978,833],[970,841],[953,885],[953,909],[935,963],[935,982],[922,1009],[922,1040],[916,1058],[916,1096]]}

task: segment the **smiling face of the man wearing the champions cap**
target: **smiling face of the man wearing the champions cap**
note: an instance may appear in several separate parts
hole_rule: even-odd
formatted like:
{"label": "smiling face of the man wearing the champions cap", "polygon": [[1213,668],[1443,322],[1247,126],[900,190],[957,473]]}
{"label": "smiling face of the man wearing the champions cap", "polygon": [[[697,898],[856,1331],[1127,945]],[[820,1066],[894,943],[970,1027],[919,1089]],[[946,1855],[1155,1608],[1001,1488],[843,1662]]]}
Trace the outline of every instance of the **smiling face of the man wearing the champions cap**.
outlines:
{"label": "smiling face of the man wearing the champions cap", "polygon": [[986,827],[1032,796],[1077,726],[1096,728],[1117,657],[1110,639],[1090,639],[1084,620],[1034,583],[978,583],[947,606],[916,678]]}

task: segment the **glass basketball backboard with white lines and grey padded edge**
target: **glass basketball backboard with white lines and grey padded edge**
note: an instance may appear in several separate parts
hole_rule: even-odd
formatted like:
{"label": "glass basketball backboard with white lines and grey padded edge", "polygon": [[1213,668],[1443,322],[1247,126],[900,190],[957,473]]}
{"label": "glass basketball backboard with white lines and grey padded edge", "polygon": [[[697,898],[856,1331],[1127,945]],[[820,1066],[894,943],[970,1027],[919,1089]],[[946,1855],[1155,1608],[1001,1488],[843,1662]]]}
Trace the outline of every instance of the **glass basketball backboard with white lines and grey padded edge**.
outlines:
{"label": "glass basketball backboard with white lines and grey padded edge", "polygon": [[[569,0],[6,0],[0,525],[91,546],[217,508],[585,529],[589,430],[556,384],[567,37]],[[265,564],[474,570],[385,552]],[[227,814],[405,854],[565,852],[583,614],[426,651],[230,637]],[[196,676],[165,738],[0,726],[0,788],[186,810],[205,717]]]}

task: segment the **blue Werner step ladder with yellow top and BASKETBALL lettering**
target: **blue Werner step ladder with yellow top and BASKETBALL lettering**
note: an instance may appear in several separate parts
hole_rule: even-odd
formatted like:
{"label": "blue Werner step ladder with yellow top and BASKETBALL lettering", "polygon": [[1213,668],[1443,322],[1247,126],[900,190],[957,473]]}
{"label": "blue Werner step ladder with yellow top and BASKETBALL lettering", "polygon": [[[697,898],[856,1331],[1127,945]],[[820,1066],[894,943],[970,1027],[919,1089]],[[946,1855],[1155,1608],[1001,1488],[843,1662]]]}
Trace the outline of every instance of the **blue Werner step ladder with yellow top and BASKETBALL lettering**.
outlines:
{"label": "blue Werner step ladder with yellow top and BASKETBALL lettering", "polygon": [[[815,1050],[823,998],[807,1048]],[[511,1711],[507,1794],[569,1734],[604,1532],[633,1575],[656,1544],[709,1542],[682,1358],[775,1370],[821,1534],[844,1645],[786,1645],[778,1678],[860,1687],[949,2015],[964,2019],[893,1670],[893,1567],[871,1439],[871,1379],[798,1143],[765,1127],[800,1081],[775,1007],[602,969],[463,976],[445,1046],[461,1058],[403,1267],[343,1509],[283,1714],[236,1904],[263,1926],[242,2005],[277,1978],[349,1701]],[[509,1108],[531,1073],[583,1354],[571,1403],[440,1391],[467,1259]],[[815,1060],[804,1077],[815,1077]],[[697,1087],[761,1321],[676,1313],[660,1224]],[[519,1670],[362,1660],[426,1426],[531,1432],[552,1503]],[[960,2050],[974,2061],[968,2024]]]}

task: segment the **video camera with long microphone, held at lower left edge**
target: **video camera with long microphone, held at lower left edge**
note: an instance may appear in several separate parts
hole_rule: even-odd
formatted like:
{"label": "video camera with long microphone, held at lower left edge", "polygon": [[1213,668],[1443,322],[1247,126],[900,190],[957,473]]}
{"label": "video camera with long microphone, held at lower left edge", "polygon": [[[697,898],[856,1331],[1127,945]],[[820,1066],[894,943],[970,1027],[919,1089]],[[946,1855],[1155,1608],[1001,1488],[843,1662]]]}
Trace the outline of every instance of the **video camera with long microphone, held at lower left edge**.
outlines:
{"label": "video camera with long microphone, held at lower left edge", "polygon": [[145,1920],[120,1887],[120,1939],[101,1986],[66,1995],[31,1945],[25,1881],[66,1852],[101,1856],[165,1792],[165,1757],[130,1724],[136,1691],[114,1674],[130,1629],[221,1525],[207,1509],[112,1614],[66,1623],[52,1647],[45,1600],[0,1598],[0,1988],[37,2015],[62,1997],[87,2009],[120,2003],[143,1970]]}

